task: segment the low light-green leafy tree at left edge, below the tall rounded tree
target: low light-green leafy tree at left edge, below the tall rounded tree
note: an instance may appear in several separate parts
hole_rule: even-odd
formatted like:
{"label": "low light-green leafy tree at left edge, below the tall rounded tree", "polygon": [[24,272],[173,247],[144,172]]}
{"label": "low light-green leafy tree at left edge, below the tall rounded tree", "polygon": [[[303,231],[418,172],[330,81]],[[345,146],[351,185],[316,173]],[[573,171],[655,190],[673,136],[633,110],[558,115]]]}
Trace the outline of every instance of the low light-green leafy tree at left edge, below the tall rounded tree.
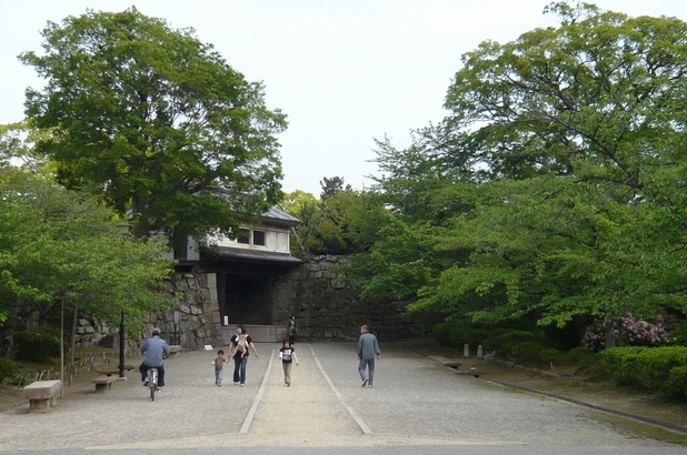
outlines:
{"label": "low light-green leafy tree at left edge, below the tall rounded tree", "polygon": [[122,235],[114,213],[83,193],[14,168],[0,170],[0,355],[12,355],[20,318],[60,304],[132,327],[173,304],[159,290],[172,272],[166,246]]}

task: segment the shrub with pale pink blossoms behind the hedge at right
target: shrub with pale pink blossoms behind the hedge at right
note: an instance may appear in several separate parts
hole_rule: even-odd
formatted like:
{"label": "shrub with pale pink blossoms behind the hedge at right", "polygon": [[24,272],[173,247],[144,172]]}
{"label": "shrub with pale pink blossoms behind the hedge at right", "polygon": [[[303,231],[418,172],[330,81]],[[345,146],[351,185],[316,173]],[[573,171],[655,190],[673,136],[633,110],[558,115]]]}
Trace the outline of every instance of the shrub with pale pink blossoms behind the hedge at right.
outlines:
{"label": "shrub with pale pink blossoms behind the hedge at right", "polygon": [[[614,321],[613,335],[617,344],[627,346],[654,346],[668,342],[668,324],[664,316],[653,322],[637,318],[629,313]],[[606,330],[603,321],[596,321],[587,328],[585,346],[599,351],[606,345]]]}

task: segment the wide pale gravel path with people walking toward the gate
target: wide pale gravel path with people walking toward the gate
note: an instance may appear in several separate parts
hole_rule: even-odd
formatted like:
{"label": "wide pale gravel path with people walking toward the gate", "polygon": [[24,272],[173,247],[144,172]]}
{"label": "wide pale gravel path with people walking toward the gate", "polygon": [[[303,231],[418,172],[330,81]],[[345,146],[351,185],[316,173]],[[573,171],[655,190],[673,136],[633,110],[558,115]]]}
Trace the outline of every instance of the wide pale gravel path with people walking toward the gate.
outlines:
{"label": "wide pale gravel path with people walking toward the gate", "polygon": [[[166,361],[155,402],[129,374],[112,390],[69,391],[59,405],[0,413],[0,451],[57,448],[406,446],[412,444],[661,445],[617,433],[593,411],[452,373],[395,344],[381,344],[375,387],[360,387],[355,343],[296,346],[300,365],[283,385],[280,345],[257,344],[245,387],[217,387],[212,352]],[[226,348],[225,348],[226,350]],[[252,353],[251,353],[252,354]]]}

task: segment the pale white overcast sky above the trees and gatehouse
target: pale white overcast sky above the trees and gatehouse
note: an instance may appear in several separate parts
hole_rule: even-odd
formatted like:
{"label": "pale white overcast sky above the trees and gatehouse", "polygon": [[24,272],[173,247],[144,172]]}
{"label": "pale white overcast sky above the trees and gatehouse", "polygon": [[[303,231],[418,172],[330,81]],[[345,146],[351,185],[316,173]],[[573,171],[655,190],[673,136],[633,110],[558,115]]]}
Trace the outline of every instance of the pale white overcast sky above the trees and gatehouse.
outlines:
{"label": "pale white overcast sky above the trees and gatehouse", "polygon": [[[629,16],[687,20],[687,0],[589,0]],[[323,176],[355,189],[377,173],[369,160],[385,134],[408,145],[410,130],[438,122],[460,55],[479,42],[515,40],[556,22],[548,0],[2,0],[0,124],[23,118],[23,93],[42,87],[17,55],[40,51],[46,21],[87,8],[132,4],[192,27],[249,81],[262,81],[267,104],[289,120],[279,135],[283,190],[319,196]]]}

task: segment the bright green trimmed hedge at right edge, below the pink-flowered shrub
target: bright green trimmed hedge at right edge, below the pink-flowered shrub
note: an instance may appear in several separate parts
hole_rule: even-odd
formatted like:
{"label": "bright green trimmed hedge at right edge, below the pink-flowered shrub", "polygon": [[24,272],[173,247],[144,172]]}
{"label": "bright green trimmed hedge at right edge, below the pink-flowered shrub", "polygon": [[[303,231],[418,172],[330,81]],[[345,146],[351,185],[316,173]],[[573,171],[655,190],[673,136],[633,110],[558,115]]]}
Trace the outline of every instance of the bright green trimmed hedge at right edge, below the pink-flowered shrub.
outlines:
{"label": "bright green trimmed hedge at right edge, below the pink-flowered shrub", "polygon": [[687,391],[687,346],[613,347],[601,353],[618,384],[635,384],[683,396]]}

